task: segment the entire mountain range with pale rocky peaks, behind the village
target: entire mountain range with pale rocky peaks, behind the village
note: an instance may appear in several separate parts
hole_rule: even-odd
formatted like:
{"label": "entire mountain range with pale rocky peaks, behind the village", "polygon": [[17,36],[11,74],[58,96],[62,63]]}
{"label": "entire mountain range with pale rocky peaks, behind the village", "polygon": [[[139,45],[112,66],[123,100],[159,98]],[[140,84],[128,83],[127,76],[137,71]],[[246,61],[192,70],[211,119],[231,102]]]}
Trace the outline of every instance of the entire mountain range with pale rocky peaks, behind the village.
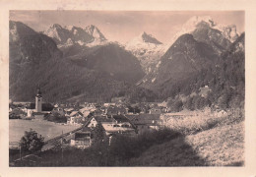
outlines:
{"label": "entire mountain range with pale rocky peaks, behind the village", "polygon": [[[172,97],[184,106],[197,95],[202,104],[222,105],[230,88],[239,91],[232,91],[235,94],[225,106],[236,105],[235,97],[242,100],[244,33],[237,33],[235,26],[217,25],[210,17],[192,17],[169,41],[163,44],[144,31],[120,44],[92,25],[54,24],[36,32],[10,21],[10,98],[32,100],[39,85],[49,101],[109,101],[115,96],[169,101]],[[234,71],[234,66],[240,69]],[[212,86],[213,78],[228,85],[220,91],[219,85]],[[209,93],[202,101],[204,87],[212,94],[218,90],[218,96],[210,98]]]}

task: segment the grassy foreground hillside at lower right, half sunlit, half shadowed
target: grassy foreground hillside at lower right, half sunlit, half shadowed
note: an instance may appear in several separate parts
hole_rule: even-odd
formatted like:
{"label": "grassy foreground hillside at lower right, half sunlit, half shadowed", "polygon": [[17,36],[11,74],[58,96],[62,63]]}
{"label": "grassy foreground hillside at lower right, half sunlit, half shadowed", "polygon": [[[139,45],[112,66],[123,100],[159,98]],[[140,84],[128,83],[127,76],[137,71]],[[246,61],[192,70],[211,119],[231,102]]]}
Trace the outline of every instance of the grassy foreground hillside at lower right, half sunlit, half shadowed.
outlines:
{"label": "grassy foreground hillside at lower right, half sunlit, half shadowed", "polygon": [[179,137],[131,159],[133,166],[241,166],[244,122]]}

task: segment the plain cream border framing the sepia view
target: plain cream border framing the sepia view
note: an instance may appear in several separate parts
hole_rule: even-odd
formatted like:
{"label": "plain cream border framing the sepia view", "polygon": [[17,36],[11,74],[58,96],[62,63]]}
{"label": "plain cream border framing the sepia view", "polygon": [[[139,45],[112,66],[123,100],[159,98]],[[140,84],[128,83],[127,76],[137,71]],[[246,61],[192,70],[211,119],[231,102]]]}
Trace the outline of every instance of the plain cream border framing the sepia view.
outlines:
{"label": "plain cream border framing the sepia view", "polygon": [[[0,0],[0,176],[256,176],[256,1],[246,0]],[[9,10],[245,11],[245,167],[9,167]]]}

